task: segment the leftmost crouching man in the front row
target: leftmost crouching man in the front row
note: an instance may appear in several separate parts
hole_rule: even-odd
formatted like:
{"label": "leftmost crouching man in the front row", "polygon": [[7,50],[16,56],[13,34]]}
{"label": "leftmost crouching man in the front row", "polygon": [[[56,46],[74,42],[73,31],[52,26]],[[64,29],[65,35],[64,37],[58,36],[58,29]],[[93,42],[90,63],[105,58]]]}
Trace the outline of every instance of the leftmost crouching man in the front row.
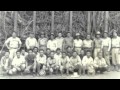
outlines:
{"label": "leftmost crouching man in the front row", "polygon": [[5,55],[1,58],[1,62],[0,62],[2,71],[6,73],[11,69],[12,60],[9,58],[9,55],[10,55],[9,52],[5,52]]}

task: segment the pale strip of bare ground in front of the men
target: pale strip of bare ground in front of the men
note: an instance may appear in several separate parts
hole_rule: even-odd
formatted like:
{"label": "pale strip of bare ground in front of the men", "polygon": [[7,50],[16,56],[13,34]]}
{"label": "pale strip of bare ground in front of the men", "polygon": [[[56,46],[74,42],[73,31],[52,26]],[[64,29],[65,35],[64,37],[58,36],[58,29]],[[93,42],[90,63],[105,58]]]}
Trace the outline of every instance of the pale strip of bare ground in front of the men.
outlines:
{"label": "pale strip of bare ground in front of the men", "polygon": [[0,79],[120,79],[120,72],[105,72],[104,74],[98,74],[94,76],[80,76],[78,78],[73,78],[71,76],[60,76],[60,75],[52,75],[52,76],[35,76],[25,75],[25,76],[6,76],[0,75]]}

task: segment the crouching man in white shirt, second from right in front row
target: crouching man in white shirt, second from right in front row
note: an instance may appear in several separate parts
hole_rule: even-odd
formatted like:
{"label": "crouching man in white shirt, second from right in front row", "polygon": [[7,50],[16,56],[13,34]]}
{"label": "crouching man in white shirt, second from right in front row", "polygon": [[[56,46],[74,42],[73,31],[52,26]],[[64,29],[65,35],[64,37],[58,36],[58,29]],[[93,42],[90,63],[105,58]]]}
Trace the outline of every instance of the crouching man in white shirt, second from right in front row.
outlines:
{"label": "crouching man in white shirt, second from right in front row", "polygon": [[86,52],[86,56],[83,57],[82,60],[82,65],[83,65],[83,75],[85,74],[85,71],[87,71],[87,74],[89,72],[93,73],[94,72],[94,63],[93,63],[93,58],[91,57],[91,51]]}

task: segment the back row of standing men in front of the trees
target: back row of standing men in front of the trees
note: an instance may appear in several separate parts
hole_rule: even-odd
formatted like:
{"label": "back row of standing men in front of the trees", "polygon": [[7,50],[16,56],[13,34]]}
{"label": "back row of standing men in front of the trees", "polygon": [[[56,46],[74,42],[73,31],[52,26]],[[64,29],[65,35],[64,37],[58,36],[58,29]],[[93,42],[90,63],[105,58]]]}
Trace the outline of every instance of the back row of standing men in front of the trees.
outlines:
{"label": "back row of standing men in front of the trees", "polygon": [[[20,38],[16,36],[16,33],[12,34],[12,37],[8,38],[5,42],[7,48],[10,51],[10,58],[14,58],[16,51],[21,48],[22,42]],[[113,31],[112,39],[108,37],[108,33],[104,32],[104,38],[101,38],[101,33],[96,32],[96,37],[94,40],[91,39],[91,36],[88,34],[85,40],[80,39],[80,34],[76,33],[76,38],[74,39],[70,32],[67,33],[67,37],[63,38],[62,33],[58,33],[58,37],[54,37],[52,33],[50,39],[45,37],[44,33],[41,33],[41,37],[36,40],[33,33],[30,33],[30,36],[25,41],[26,48],[33,49],[38,47],[43,49],[46,52],[46,49],[49,48],[51,51],[56,51],[57,48],[60,48],[62,51],[67,50],[68,47],[71,47],[73,50],[80,55],[81,50],[83,49],[86,53],[87,50],[91,51],[93,57],[97,57],[97,53],[102,51],[103,57],[105,58],[107,64],[110,66],[110,51],[112,52],[112,65],[115,68],[119,66],[119,52],[120,52],[120,37],[117,35],[117,31]]]}

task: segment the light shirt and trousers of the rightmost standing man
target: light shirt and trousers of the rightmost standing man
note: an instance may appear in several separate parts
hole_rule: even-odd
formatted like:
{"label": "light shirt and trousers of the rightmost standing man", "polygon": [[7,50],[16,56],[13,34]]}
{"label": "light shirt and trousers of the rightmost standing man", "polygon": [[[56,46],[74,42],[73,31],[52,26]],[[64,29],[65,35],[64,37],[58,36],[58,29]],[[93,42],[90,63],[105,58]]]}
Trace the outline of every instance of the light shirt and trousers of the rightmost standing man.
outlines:
{"label": "light shirt and trousers of the rightmost standing man", "polygon": [[120,64],[120,37],[117,36],[117,38],[112,38],[112,64],[118,65]]}

